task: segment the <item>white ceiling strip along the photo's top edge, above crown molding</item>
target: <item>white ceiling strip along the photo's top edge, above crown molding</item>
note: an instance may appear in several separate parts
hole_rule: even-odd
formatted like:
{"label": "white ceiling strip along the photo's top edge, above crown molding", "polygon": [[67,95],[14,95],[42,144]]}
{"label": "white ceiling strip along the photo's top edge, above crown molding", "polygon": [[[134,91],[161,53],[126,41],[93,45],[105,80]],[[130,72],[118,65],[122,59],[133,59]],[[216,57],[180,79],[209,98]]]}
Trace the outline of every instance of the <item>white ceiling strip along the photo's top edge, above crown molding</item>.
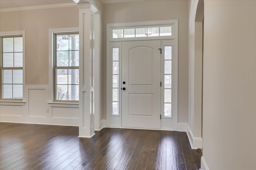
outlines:
{"label": "white ceiling strip along the photo's top edge, above crown molding", "polygon": [[[138,0],[101,0],[103,4],[130,2]],[[0,0],[0,9],[21,8],[30,6],[46,6],[52,4],[72,4],[73,0]]]}

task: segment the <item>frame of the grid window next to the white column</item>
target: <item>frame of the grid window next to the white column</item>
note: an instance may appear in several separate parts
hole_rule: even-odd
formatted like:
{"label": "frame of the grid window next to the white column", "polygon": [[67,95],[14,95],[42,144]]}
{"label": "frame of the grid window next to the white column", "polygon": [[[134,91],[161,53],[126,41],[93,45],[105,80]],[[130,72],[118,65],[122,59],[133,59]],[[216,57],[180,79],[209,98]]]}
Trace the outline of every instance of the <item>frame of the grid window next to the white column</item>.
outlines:
{"label": "frame of the grid window next to the white column", "polygon": [[[57,86],[57,82],[56,82],[56,79],[57,79],[57,74],[56,74],[56,71],[57,69],[78,69],[78,73],[79,73],[79,66],[57,66],[57,50],[56,50],[56,40],[57,40],[57,36],[58,35],[72,35],[72,34],[78,34],[79,35],[79,32],[78,31],[61,31],[61,32],[53,32],[52,33],[52,38],[53,38],[53,43],[52,43],[52,49],[53,49],[53,101],[54,102],[58,102],[58,103],[79,103],[79,99],[78,100],[57,100],[56,99],[56,86]],[[67,50],[68,53],[70,53],[70,51],[72,50]],[[78,50],[80,52],[80,49]],[[79,57],[79,55],[78,55]],[[67,84],[67,85],[72,85],[72,84]],[[79,88],[79,84],[76,84],[78,85],[78,88]],[[79,95],[79,91],[78,91],[78,95]]]}

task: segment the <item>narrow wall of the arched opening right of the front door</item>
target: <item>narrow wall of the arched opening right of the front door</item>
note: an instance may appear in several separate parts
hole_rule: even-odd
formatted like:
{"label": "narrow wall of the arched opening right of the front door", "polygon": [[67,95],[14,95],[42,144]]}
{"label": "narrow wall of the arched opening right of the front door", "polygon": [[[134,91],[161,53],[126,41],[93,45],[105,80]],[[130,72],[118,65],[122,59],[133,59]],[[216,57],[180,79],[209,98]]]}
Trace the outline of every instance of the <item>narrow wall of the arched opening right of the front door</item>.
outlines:
{"label": "narrow wall of the arched opening right of the front door", "polygon": [[189,122],[192,148],[202,148],[202,28],[203,1],[189,3]]}

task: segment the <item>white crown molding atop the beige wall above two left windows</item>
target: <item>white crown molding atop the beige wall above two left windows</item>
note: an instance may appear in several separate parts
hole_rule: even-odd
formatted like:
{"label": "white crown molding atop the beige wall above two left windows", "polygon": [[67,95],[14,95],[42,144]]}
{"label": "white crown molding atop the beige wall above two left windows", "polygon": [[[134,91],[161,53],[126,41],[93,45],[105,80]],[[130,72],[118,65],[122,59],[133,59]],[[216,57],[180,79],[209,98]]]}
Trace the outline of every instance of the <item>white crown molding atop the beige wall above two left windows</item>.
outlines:
{"label": "white crown molding atop the beige wall above two left windows", "polygon": [[48,9],[48,8],[71,7],[71,6],[76,6],[76,3],[72,2],[72,3],[65,3],[65,4],[50,4],[50,5],[38,5],[38,6],[24,6],[24,7],[16,7],[16,8],[4,8],[4,9],[0,9],[0,12],[40,10],[40,9]]}

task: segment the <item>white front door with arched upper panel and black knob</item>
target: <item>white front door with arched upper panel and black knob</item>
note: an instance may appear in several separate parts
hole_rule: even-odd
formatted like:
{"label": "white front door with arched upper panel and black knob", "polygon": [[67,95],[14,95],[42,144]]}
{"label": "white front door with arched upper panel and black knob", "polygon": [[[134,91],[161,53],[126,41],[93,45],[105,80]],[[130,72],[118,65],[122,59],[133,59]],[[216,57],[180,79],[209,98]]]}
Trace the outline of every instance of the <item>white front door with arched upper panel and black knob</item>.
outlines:
{"label": "white front door with arched upper panel and black knob", "polygon": [[160,129],[161,41],[122,42],[122,127]]}

